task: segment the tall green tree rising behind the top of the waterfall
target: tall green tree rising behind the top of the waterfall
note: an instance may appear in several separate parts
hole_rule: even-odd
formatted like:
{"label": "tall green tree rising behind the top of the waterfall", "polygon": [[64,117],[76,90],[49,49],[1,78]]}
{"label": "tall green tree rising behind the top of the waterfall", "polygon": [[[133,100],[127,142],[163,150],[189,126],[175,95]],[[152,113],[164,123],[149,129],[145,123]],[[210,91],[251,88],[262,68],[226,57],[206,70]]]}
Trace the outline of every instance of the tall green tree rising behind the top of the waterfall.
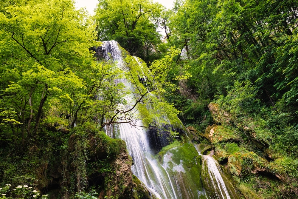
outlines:
{"label": "tall green tree rising behind the top of the waterfall", "polygon": [[97,11],[98,39],[116,40],[131,55],[150,60],[161,35],[156,31],[162,5],[151,0],[100,0]]}

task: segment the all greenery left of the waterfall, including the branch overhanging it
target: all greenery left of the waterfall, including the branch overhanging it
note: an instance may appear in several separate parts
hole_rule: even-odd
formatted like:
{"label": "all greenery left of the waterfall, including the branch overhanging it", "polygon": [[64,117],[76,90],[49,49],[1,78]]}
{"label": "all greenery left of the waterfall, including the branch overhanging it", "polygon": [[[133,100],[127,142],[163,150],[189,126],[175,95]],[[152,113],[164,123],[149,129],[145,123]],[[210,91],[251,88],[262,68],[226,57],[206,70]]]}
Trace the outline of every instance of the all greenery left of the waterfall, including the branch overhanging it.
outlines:
{"label": "all greenery left of the waterfall, including the branch overhanging it", "polygon": [[[114,61],[93,56],[90,47],[101,45],[94,41],[95,22],[83,10],[75,10],[73,3],[0,3],[1,183],[30,185],[42,192],[51,185],[54,188],[49,192],[61,191],[53,191],[52,197],[88,198],[92,193],[83,191],[90,176],[105,173],[103,182],[94,185],[99,185],[97,191],[117,198],[127,187],[120,186],[122,178],[115,181],[113,161],[120,152],[126,152],[125,143],[99,130],[114,123],[135,125],[140,119],[135,109],[140,104],[150,104],[152,115],[160,115],[162,109],[170,118],[177,110],[155,97],[160,85],[155,85],[157,77],[149,75],[146,64],[139,66],[140,61],[123,50],[127,56],[121,60],[122,66],[128,68],[124,72]],[[139,20],[150,22],[143,16]],[[148,76],[147,87],[139,81],[140,74]],[[116,81],[124,77],[132,88]],[[132,91],[135,104],[126,100]],[[92,144],[102,151],[94,154]],[[103,156],[99,158],[97,153]],[[114,189],[116,183],[121,192]],[[13,194],[7,193],[7,198]],[[19,197],[33,196],[30,192]]]}

